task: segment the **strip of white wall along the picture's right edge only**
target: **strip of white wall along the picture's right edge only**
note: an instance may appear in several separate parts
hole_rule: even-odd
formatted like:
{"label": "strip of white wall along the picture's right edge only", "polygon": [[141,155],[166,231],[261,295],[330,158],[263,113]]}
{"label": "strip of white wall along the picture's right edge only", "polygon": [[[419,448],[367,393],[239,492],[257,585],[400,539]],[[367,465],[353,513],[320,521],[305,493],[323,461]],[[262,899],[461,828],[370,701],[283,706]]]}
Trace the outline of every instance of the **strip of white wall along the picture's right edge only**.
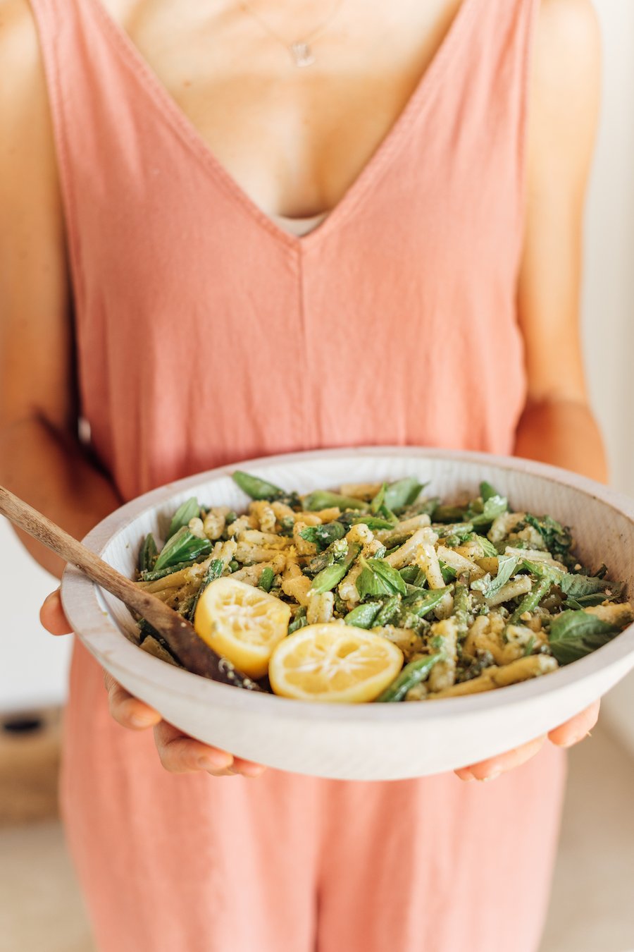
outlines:
{"label": "strip of white wall along the picture's right edge only", "polygon": [[[595,7],[604,99],[586,211],[584,346],[611,483],[634,496],[634,2],[595,0]],[[634,754],[634,675],[605,698],[604,717]]]}

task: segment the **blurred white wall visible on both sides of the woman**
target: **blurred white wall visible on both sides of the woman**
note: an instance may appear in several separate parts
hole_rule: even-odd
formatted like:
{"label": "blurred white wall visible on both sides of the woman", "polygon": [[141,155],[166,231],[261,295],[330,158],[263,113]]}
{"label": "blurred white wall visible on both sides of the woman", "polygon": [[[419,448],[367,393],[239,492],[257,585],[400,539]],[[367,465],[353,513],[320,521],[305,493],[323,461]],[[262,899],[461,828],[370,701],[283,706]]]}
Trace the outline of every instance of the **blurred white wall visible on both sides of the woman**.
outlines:
{"label": "blurred white wall visible on both sides of the woman", "polygon": [[[595,0],[604,33],[604,104],[586,214],[583,327],[592,404],[612,483],[634,496],[634,0]],[[52,638],[38,608],[53,585],[0,522],[0,712],[66,694],[70,639]],[[634,751],[634,678],[605,715]]]}

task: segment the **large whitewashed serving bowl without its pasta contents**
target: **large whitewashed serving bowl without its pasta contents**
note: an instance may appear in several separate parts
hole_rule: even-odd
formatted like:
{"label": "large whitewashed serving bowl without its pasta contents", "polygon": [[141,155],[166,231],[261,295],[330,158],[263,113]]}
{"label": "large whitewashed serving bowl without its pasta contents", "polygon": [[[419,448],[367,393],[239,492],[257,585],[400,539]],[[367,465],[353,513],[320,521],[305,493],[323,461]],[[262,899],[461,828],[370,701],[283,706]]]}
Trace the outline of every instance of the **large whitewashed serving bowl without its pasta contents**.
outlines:
{"label": "large whitewashed serving bowl without its pasta contents", "polygon": [[[87,544],[134,576],[149,532],[164,538],[177,507],[191,496],[239,512],[249,503],[230,466],[163,486],[123,506]],[[240,469],[284,488],[392,482],[416,477],[425,495],[475,496],[483,481],[513,508],[548,512],[573,526],[584,565],[605,560],[610,577],[634,590],[634,506],[563,470],[485,454],[418,448],[327,450],[270,457]],[[62,595],[74,630],[118,681],[163,717],[205,743],[279,769],[342,779],[397,779],[474,763],[561,724],[599,698],[634,666],[634,631],[548,677],[503,690],[425,704],[317,704],[251,695],[205,681],[139,650],[124,605],[68,568]],[[304,629],[305,630],[305,629]]]}

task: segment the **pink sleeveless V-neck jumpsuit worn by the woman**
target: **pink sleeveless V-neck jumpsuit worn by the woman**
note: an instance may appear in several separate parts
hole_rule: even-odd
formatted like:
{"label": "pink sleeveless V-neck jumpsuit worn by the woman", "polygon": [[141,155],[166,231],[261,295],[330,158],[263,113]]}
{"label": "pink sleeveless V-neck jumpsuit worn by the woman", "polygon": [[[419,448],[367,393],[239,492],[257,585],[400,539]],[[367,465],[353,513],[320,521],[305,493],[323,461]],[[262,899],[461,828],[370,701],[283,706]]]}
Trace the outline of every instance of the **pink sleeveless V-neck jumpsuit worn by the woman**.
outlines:
{"label": "pink sleeveless V-neck jumpsuit worn by the woman", "polygon": [[[512,452],[537,0],[464,0],[303,238],[221,168],[98,0],[31,2],[82,412],[126,499],[287,450]],[[101,952],[535,952],[564,772],[548,745],[485,784],[173,776],[75,647],[63,801]]]}

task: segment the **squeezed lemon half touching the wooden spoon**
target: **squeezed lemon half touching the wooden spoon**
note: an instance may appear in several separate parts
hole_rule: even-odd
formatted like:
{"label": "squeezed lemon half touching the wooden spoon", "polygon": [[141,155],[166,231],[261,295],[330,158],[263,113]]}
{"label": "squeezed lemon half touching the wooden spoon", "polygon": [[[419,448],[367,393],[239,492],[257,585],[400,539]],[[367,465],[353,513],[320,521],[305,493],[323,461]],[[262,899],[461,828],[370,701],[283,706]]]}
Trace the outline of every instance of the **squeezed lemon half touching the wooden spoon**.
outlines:
{"label": "squeezed lemon half touching the wooden spoon", "polygon": [[194,628],[209,647],[250,678],[266,674],[271,652],[288,632],[291,608],[261,588],[229,576],[202,592]]}

